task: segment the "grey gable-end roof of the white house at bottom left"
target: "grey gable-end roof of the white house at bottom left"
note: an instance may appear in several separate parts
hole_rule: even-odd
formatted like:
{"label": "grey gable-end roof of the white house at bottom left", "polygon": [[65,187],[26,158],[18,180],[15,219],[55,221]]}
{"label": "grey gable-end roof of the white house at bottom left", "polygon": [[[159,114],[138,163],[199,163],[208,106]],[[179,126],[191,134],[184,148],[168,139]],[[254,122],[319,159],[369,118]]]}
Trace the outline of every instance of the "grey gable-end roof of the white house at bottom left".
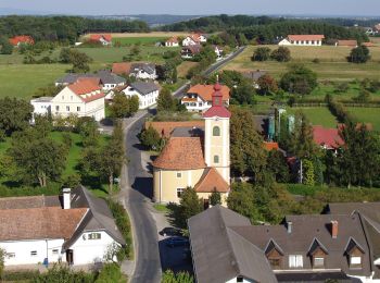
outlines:
{"label": "grey gable-end roof of the white house at bottom left", "polygon": [[84,232],[100,230],[107,232],[117,243],[125,244],[104,199],[97,198],[84,186],[78,186],[72,190],[72,208],[89,208],[89,211],[72,238],[65,243],[65,248],[74,244]]}

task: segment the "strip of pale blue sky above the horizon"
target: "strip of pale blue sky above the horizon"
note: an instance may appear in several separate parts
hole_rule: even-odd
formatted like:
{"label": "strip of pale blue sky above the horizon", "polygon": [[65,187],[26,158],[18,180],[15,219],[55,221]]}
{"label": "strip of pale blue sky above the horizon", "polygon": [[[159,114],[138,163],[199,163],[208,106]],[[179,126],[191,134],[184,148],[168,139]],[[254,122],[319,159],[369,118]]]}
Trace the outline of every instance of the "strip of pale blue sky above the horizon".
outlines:
{"label": "strip of pale blue sky above the horizon", "polygon": [[0,0],[0,11],[81,15],[280,14],[380,16],[380,0]]}

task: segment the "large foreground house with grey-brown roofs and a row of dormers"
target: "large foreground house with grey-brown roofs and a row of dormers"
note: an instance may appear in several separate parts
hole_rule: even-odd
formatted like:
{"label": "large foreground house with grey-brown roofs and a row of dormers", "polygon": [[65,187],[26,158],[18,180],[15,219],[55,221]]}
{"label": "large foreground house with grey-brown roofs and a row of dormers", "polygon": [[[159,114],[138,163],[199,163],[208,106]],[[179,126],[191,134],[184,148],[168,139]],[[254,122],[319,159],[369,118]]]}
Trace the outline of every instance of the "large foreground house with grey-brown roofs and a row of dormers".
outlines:
{"label": "large foreground house with grey-brown roofs and a row of dormers", "polygon": [[378,254],[372,256],[379,230],[373,237],[367,230],[379,223],[354,207],[345,214],[337,210],[287,216],[277,225],[251,225],[221,206],[190,218],[197,282],[379,282]]}

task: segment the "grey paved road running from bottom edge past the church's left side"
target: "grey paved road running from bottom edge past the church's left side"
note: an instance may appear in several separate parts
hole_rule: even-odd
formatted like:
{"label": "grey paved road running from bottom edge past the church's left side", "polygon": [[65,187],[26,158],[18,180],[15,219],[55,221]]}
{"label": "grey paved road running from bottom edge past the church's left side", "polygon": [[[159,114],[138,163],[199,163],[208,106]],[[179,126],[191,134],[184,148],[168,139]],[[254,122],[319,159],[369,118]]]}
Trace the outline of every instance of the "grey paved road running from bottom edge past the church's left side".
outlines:
{"label": "grey paved road running from bottom edge past the church's left side", "polygon": [[137,119],[126,123],[127,157],[130,160],[125,169],[124,199],[134,229],[135,272],[132,283],[161,281],[161,261],[156,224],[149,210],[152,195],[152,179],[141,165],[141,152],[137,138],[148,112],[140,111]]}

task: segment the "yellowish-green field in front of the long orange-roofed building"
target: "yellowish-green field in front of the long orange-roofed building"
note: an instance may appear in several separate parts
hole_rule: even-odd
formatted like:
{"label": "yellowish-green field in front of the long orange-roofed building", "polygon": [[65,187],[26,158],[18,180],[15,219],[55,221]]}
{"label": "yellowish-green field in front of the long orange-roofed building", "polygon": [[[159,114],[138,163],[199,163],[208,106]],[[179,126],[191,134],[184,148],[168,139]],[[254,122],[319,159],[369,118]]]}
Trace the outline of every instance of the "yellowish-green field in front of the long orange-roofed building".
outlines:
{"label": "yellowish-green field in front of the long orange-roofed building", "polygon": [[[277,46],[268,46],[276,49]],[[287,71],[287,63],[276,61],[252,62],[251,57],[257,47],[250,46],[239,57],[227,64],[224,70],[255,71],[265,70],[274,77],[278,78]],[[353,64],[345,60],[351,48],[346,47],[289,47],[291,50],[291,62],[304,63],[318,74],[320,81],[352,81],[368,78],[379,78],[380,72],[380,47],[370,48],[371,60],[366,64]],[[319,63],[313,63],[318,58]]]}

